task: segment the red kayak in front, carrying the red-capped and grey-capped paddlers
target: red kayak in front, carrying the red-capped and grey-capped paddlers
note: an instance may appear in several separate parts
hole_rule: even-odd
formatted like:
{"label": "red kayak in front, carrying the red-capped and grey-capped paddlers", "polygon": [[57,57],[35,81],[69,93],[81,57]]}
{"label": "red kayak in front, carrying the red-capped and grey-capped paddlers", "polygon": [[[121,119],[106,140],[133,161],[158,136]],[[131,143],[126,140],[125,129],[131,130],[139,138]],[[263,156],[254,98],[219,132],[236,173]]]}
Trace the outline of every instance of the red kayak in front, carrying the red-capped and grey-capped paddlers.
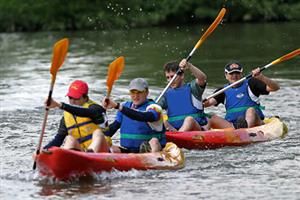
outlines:
{"label": "red kayak in front, carrying the red-capped and grey-capped paddlers", "polygon": [[42,151],[36,160],[40,174],[60,180],[113,169],[175,170],[184,167],[184,161],[182,150],[170,142],[161,152],[141,154],[85,153],[52,147],[48,151]]}

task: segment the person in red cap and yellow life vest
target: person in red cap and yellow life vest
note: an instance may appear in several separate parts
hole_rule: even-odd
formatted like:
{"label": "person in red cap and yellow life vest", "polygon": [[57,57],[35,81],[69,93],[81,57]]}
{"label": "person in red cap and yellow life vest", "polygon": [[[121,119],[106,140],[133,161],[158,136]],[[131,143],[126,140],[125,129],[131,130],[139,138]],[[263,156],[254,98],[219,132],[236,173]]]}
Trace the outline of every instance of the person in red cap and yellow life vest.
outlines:
{"label": "person in red cap and yellow life vest", "polygon": [[60,108],[64,115],[60,120],[59,129],[55,138],[44,149],[51,146],[87,151],[108,152],[109,145],[102,133],[107,124],[106,110],[90,100],[87,83],[74,81],[67,93],[70,104],[60,103],[51,99],[48,108]]}

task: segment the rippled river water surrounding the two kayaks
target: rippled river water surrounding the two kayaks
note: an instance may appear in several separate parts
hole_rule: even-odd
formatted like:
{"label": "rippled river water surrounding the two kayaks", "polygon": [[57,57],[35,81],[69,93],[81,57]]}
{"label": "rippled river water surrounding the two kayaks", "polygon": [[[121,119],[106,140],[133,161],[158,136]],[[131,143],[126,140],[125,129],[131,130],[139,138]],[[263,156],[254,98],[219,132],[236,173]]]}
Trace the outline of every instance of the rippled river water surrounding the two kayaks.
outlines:
{"label": "rippled river water surrounding the two kayaks", "polygon": [[[150,97],[166,85],[162,66],[184,58],[208,25],[119,31],[0,33],[0,199],[299,199],[300,56],[272,66],[265,75],[281,89],[261,101],[266,115],[279,115],[289,127],[284,139],[217,150],[188,151],[178,171],[113,171],[59,182],[32,170],[50,85],[52,45],[70,39],[53,97],[67,101],[70,82],[89,83],[90,97],[106,91],[107,66],[125,56],[126,66],[112,97],[128,99],[132,78],[145,77]],[[246,72],[299,48],[299,23],[223,24],[196,51],[191,62],[208,75],[204,96],[225,83],[224,65],[239,60]],[[191,76],[187,80],[191,80]],[[223,115],[224,108],[207,112]],[[62,112],[51,110],[43,144],[54,136]],[[114,111],[109,112],[110,121]],[[118,135],[113,138],[118,142]]]}

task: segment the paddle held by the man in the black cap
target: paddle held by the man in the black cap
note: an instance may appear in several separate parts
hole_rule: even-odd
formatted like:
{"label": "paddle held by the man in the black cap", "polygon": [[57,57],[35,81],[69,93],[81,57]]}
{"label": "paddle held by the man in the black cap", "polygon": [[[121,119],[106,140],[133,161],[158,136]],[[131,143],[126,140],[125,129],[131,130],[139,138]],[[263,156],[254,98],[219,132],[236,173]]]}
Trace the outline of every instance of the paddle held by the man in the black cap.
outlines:
{"label": "paddle held by the man in the black cap", "polygon": [[[260,71],[262,72],[263,70],[265,70],[265,69],[271,67],[272,65],[276,65],[276,64],[281,63],[281,62],[283,62],[283,61],[289,60],[289,59],[291,59],[291,58],[293,58],[293,57],[295,57],[295,56],[297,56],[297,55],[299,55],[299,54],[300,54],[300,48],[299,48],[299,49],[296,49],[296,50],[294,50],[294,51],[292,51],[292,52],[290,52],[290,53],[288,53],[288,54],[286,54],[286,55],[284,55],[284,56],[282,56],[282,57],[280,57],[280,58],[278,58],[278,59],[276,59],[276,60],[274,60],[273,62],[271,62],[271,63],[269,63],[269,64],[267,64],[267,65],[265,65],[264,67],[260,68]],[[236,82],[234,82],[234,83],[232,83],[232,84],[230,84],[230,85],[224,87],[223,89],[217,91],[216,93],[214,93],[214,94],[212,94],[212,95],[206,97],[203,101],[206,101],[206,100],[208,100],[208,99],[210,99],[210,98],[213,98],[213,97],[215,97],[215,96],[221,94],[221,93],[224,92],[225,90],[227,90],[227,89],[229,89],[229,88],[231,88],[231,87],[233,87],[233,86],[235,86],[235,85],[237,85],[237,84],[243,82],[244,80],[246,80],[246,79],[248,79],[248,78],[250,78],[250,77],[252,77],[252,73],[250,73],[250,74],[248,74],[247,76],[245,76],[244,78],[241,78],[240,80],[238,80],[238,81],[236,81]]]}

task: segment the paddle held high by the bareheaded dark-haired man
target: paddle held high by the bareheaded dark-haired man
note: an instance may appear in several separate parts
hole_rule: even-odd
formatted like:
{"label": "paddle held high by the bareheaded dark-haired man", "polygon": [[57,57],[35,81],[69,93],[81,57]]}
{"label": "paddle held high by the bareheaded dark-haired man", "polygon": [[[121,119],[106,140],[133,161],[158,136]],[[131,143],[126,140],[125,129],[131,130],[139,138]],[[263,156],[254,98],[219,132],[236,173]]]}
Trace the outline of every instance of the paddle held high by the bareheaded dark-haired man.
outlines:
{"label": "paddle held high by the bareheaded dark-haired man", "polygon": [[[222,21],[224,15],[226,13],[226,9],[222,8],[221,11],[219,12],[217,18],[215,21],[208,27],[208,29],[205,31],[205,33],[201,36],[197,44],[194,46],[193,50],[190,52],[188,57],[186,58],[187,61],[189,61],[195,51],[201,46],[201,44],[205,41],[205,39],[217,28],[218,24]],[[170,85],[174,82],[174,80],[177,78],[177,76],[182,73],[181,69],[178,69],[177,72],[174,74],[173,78],[169,81],[165,89],[162,91],[162,93],[159,95],[159,97],[156,99],[156,102],[159,102],[160,99],[164,96],[166,93],[167,89],[170,87]]]}

